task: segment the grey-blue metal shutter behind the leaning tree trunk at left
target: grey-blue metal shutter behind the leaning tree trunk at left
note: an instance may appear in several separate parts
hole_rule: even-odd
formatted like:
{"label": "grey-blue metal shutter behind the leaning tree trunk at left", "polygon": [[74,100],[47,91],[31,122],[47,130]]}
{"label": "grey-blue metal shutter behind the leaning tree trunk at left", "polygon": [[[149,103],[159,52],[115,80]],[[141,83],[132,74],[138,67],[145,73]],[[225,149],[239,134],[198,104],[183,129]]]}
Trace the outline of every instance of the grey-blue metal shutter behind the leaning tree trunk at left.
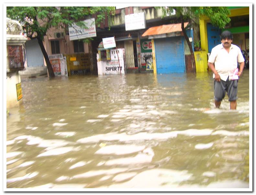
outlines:
{"label": "grey-blue metal shutter behind the leaning tree trunk at left", "polygon": [[27,41],[25,46],[28,67],[44,66],[43,53],[37,39]]}

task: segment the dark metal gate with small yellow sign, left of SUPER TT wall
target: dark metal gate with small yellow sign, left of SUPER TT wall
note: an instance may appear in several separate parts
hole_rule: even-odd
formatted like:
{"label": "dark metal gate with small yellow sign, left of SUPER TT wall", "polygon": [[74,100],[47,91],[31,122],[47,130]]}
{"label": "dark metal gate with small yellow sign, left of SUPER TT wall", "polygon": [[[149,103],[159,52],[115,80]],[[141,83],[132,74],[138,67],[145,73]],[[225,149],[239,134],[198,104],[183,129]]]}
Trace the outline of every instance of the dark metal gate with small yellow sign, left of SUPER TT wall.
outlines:
{"label": "dark metal gate with small yellow sign, left of SUPER TT wall", "polygon": [[68,75],[86,75],[93,72],[93,55],[89,53],[63,54]]}

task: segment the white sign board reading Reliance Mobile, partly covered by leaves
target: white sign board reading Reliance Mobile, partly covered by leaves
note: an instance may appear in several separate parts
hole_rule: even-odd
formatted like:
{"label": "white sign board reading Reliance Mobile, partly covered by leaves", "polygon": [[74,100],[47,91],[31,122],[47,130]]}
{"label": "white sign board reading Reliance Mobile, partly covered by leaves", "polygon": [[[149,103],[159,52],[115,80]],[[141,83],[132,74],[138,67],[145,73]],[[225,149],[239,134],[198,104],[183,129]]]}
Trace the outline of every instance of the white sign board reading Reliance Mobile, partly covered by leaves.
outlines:
{"label": "white sign board reading Reliance Mobile, partly covered by leaves", "polygon": [[95,18],[90,18],[83,21],[87,28],[81,28],[76,24],[72,24],[72,27],[69,27],[69,39],[78,40],[88,37],[96,37],[96,26]]}

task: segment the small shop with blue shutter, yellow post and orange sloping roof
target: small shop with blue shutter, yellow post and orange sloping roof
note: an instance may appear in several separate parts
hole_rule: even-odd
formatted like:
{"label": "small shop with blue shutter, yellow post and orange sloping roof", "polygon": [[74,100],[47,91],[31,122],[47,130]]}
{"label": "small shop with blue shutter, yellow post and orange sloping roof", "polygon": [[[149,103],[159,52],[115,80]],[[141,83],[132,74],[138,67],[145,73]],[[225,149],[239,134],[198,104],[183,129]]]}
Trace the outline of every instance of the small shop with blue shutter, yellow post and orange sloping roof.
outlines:
{"label": "small shop with blue shutter, yellow post and orange sloping roof", "polygon": [[[184,24],[186,27],[188,23]],[[149,28],[142,37],[153,39],[152,59],[154,73],[186,72],[184,36],[181,23]]]}

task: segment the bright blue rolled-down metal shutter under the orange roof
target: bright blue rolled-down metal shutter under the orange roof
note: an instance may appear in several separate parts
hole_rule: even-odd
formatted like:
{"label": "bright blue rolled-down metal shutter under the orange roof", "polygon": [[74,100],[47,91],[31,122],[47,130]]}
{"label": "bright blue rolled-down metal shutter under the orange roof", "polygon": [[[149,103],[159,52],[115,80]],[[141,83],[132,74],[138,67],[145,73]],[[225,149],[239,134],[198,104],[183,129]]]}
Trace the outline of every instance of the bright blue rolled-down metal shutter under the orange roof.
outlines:
{"label": "bright blue rolled-down metal shutter under the orange roof", "polygon": [[185,72],[184,38],[155,39],[157,73]]}

